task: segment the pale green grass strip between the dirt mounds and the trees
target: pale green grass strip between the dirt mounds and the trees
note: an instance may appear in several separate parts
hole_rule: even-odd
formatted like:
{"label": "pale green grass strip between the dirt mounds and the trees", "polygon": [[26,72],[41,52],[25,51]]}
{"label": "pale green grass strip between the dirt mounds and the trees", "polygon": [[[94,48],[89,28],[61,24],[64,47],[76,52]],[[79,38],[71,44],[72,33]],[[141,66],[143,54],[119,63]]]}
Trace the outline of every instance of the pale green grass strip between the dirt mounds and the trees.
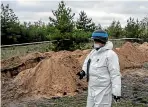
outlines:
{"label": "pale green grass strip between the dirt mounds and the trees", "polygon": [[[120,47],[123,41],[113,41],[114,47]],[[93,43],[86,43],[80,46],[75,46],[75,49],[90,49]],[[52,43],[34,44],[26,46],[13,46],[7,48],[1,48],[1,59],[8,59],[14,56],[22,56],[31,52],[47,52],[53,50],[54,46]]]}

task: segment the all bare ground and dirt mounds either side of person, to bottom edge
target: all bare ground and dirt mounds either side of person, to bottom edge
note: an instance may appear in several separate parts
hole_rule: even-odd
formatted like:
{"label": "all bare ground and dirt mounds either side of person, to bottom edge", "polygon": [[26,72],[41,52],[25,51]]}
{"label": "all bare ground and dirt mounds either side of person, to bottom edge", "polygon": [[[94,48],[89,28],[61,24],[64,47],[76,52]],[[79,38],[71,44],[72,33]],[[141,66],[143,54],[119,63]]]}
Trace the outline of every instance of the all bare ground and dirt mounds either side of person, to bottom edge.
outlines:
{"label": "all bare ground and dirt mounds either side of person, to bottom edge", "polygon": [[[115,107],[148,106],[147,47],[127,42],[114,49],[123,75],[123,98]],[[89,52],[38,52],[1,61],[2,107],[85,107],[87,82],[76,73]]]}

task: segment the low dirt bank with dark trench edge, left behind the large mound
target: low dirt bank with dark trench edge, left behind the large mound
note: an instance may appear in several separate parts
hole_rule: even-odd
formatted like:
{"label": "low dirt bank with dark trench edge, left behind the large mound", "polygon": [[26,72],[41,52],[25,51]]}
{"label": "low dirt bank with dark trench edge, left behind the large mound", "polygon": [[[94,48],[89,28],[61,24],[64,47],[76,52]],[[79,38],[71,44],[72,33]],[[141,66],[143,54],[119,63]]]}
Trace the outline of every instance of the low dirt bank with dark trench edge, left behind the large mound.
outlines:
{"label": "low dirt bank with dark trench edge, left behind the large mound", "polygon": [[17,75],[19,72],[35,67],[41,60],[50,57],[53,52],[48,53],[30,53],[26,56],[16,56],[1,61],[1,71],[6,73],[8,77]]}

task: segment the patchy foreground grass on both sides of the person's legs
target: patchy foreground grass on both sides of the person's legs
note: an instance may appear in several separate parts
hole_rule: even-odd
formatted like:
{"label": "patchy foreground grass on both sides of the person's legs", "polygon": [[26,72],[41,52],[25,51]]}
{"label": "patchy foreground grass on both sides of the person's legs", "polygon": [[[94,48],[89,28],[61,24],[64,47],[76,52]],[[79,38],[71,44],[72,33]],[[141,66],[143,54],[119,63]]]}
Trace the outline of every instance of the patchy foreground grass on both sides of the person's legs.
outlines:
{"label": "patchy foreground grass on both sides of the person's legs", "polygon": [[[87,93],[75,97],[64,97],[56,100],[47,100],[51,105],[45,103],[37,104],[37,107],[86,107]],[[47,103],[46,103],[47,104]],[[144,104],[133,104],[131,101],[121,100],[117,104],[113,102],[112,107],[146,107]]]}

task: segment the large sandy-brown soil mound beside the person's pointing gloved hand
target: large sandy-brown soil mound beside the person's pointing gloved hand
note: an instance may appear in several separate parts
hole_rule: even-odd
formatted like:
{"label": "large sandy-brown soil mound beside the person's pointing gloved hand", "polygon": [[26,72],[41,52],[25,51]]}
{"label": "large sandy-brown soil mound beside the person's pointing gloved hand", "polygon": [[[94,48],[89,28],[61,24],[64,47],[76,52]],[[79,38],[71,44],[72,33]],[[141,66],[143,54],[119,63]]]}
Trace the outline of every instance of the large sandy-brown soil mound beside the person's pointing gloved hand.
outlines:
{"label": "large sandy-brown soil mound beside the person's pointing gloved hand", "polygon": [[61,51],[44,59],[37,66],[18,74],[14,79],[25,93],[25,96],[63,96],[74,95],[79,89],[86,87],[86,82],[80,81],[76,73],[81,70],[77,59],[71,52]]}

